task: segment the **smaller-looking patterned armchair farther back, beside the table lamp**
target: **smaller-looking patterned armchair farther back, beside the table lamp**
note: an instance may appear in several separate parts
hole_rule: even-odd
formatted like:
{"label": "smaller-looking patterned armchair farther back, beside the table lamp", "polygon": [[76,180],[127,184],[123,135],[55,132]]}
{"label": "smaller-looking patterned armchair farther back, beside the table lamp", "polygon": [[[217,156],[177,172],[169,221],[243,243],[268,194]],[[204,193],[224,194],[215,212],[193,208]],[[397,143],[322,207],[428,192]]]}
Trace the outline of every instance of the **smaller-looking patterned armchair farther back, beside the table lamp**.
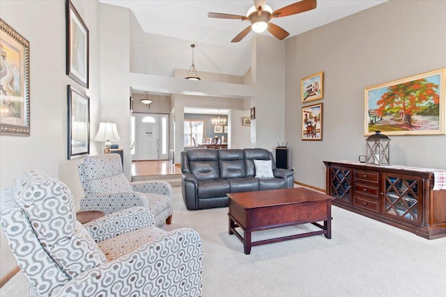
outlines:
{"label": "smaller-looking patterned armchair farther back, beside the table lamp", "polygon": [[130,207],[145,207],[153,214],[155,225],[171,223],[172,187],[168,182],[130,183],[118,154],[86,156],[77,169],[85,193],[81,199],[83,211],[112,214]]}

